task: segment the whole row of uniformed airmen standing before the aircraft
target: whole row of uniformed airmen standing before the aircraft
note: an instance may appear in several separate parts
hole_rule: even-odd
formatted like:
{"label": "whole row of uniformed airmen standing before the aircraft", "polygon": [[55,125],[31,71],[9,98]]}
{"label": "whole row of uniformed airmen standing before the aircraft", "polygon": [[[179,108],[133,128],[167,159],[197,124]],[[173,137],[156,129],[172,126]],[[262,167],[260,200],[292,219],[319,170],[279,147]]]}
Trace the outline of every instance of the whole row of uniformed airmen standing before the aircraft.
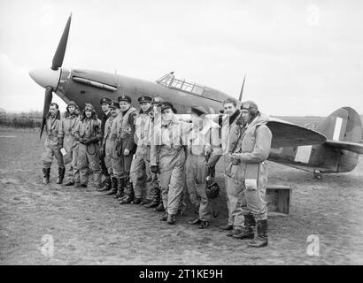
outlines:
{"label": "whole row of uniformed airmen standing before the aircraft", "polygon": [[58,184],[66,174],[66,186],[87,187],[91,172],[97,190],[120,204],[163,211],[160,220],[169,225],[185,209],[188,192],[198,208],[198,218],[188,223],[205,229],[212,220],[212,199],[219,193],[214,175],[221,159],[228,221],[220,229],[233,239],[251,239],[250,247],[267,246],[265,161],[272,134],[256,103],[237,107],[227,99],[217,120],[204,107],[191,107],[189,122],[178,119],[174,105],[161,97],[140,96],[138,103],[139,111],[129,96],[119,96],[117,102],[104,97],[101,119],[90,103],[80,112],[71,101],[62,117],[58,104],[50,103],[43,183],[49,183],[56,157]]}

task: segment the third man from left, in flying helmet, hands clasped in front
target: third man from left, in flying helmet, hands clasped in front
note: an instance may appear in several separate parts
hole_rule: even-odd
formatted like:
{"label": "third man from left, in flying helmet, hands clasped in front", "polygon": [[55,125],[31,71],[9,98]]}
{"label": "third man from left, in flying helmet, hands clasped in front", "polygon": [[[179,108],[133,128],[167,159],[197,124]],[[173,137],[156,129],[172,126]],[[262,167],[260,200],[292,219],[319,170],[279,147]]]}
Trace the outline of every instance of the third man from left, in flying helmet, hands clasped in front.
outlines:
{"label": "third man from left, in flying helmet, hands clasped in front", "polygon": [[75,187],[87,187],[89,169],[93,173],[94,185],[98,188],[101,181],[101,166],[99,162],[99,144],[102,139],[101,121],[92,104],[86,103],[81,115],[81,121],[75,130],[74,137],[80,142],[78,146],[77,166],[81,171],[81,184]]}

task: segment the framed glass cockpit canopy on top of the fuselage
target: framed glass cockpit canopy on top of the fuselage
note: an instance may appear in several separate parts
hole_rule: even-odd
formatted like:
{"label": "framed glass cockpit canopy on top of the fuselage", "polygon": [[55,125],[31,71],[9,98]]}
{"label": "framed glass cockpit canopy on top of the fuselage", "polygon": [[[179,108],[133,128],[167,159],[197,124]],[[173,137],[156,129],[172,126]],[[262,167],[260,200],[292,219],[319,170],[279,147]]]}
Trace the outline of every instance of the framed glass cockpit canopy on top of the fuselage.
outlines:
{"label": "framed glass cockpit canopy on top of the fuselage", "polygon": [[196,82],[184,79],[176,79],[174,76],[174,72],[166,73],[166,75],[162,76],[160,79],[157,80],[157,83],[167,88],[182,90],[184,92],[189,92],[197,96],[203,96],[205,90],[207,89],[205,86],[199,85]]}

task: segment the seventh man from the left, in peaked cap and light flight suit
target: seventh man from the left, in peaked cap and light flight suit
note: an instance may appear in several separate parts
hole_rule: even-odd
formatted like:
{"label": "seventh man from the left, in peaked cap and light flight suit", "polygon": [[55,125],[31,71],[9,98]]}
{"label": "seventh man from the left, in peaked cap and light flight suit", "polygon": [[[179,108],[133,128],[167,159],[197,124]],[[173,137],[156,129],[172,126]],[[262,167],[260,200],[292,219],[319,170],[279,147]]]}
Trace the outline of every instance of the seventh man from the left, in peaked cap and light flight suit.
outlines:
{"label": "seventh man from the left, in peaked cap and light flight suit", "polygon": [[[156,194],[155,184],[152,180],[156,178],[150,171],[150,148],[151,148],[151,106],[150,96],[140,96],[138,98],[140,103],[140,111],[135,116],[135,136],[134,140],[137,144],[135,157],[131,163],[130,179],[134,186],[135,200],[134,203],[149,204],[154,199]],[[142,202],[143,187],[147,185],[146,200]],[[149,199],[148,199],[149,197]],[[149,201],[149,202],[148,202]],[[154,202],[149,207],[158,206],[158,203]]]}

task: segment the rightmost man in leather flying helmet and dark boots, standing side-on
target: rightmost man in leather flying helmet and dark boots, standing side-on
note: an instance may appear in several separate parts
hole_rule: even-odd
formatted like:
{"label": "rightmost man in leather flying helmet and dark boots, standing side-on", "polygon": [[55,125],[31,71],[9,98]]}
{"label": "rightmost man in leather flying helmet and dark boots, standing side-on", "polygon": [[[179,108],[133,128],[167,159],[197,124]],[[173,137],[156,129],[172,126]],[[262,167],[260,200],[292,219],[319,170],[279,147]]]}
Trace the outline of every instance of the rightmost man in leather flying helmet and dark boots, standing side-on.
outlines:
{"label": "rightmost man in leather flying helmet and dark boots, standing side-on", "polygon": [[[244,228],[233,235],[236,239],[253,239],[248,246],[266,247],[267,208],[265,201],[267,185],[266,159],[271,149],[272,133],[266,126],[268,117],[259,112],[256,103],[242,103],[243,135],[236,149],[230,154],[234,160],[228,176],[235,181],[236,194],[243,195]],[[242,194],[243,191],[243,194]],[[255,225],[257,236],[254,237]]]}

